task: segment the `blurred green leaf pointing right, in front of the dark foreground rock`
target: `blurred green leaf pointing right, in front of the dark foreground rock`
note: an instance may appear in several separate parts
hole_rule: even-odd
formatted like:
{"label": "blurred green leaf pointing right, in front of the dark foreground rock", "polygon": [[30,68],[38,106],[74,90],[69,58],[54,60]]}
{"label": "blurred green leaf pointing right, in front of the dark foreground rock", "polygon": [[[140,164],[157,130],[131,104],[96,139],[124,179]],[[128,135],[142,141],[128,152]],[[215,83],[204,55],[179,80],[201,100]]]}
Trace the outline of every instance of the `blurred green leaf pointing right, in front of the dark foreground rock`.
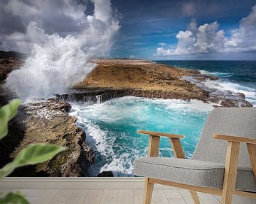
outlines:
{"label": "blurred green leaf pointing right, in front of the dark foreground rock", "polygon": [[38,164],[52,159],[56,154],[63,152],[66,147],[58,145],[33,144],[22,149],[15,157],[14,161],[6,164],[0,169],[0,178],[8,176],[14,169],[29,164]]}

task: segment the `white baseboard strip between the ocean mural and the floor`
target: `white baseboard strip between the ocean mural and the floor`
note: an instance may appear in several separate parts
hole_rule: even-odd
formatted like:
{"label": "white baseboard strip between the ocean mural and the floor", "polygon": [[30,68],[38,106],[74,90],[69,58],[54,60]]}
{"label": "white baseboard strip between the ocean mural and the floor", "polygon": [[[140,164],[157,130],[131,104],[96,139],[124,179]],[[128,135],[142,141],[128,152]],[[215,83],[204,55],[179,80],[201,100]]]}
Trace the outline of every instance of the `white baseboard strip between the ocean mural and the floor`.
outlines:
{"label": "white baseboard strip between the ocean mural and the floor", "polygon": [[[143,178],[4,178],[0,189],[143,189]],[[171,188],[156,185],[157,188]]]}

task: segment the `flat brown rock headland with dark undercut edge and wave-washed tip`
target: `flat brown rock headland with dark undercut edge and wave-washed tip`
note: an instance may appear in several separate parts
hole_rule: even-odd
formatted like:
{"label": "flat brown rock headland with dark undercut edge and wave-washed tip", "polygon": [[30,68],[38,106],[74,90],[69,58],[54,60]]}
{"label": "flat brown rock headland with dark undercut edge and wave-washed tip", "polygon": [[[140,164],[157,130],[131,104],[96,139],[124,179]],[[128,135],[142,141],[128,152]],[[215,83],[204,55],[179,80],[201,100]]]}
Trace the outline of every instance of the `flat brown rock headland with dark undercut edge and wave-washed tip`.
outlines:
{"label": "flat brown rock headland with dark undercut edge and wave-washed tip", "polygon": [[170,67],[146,60],[92,60],[97,67],[67,94],[57,95],[63,101],[102,103],[111,98],[137,96],[164,99],[197,99],[215,106],[252,106],[242,93],[218,91],[204,81],[218,77],[197,70]]}

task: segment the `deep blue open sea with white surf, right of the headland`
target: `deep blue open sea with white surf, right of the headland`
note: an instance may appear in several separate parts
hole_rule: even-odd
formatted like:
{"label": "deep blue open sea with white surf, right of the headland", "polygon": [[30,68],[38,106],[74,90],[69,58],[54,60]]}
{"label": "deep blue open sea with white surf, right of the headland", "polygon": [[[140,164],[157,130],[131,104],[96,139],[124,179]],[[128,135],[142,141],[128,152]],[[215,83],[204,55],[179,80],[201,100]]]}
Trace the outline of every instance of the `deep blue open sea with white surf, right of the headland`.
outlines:
{"label": "deep blue open sea with white surf, right of the headland", "polygon": [[208,86],[241,92],[247,101],[256,106],[256,61],[154,61],[174,67],[196,69],[201,74],[213,75],[218,81],[209,81]]}

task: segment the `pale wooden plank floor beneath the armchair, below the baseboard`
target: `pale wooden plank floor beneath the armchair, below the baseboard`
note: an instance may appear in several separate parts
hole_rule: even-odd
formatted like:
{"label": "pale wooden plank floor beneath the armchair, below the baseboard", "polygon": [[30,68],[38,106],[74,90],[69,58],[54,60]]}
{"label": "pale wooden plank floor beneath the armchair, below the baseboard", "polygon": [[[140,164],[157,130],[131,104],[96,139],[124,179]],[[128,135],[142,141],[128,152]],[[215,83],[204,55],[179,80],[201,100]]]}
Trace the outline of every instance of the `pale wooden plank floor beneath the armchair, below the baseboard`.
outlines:
{"label": "pale wooden plank floor beneath the armchair, below the baseboard", "polygon": [[[14,190],[1,190],[6,193]],[[140,189],[22,189],[31,204],[142,204]],[[202,204],[220,204],[220,196],[198,193]],[[188,191],[183,189],[156,189],[153,204],[193,204]],[[255,204],[255,199],[235,196],[233,203]]]}

